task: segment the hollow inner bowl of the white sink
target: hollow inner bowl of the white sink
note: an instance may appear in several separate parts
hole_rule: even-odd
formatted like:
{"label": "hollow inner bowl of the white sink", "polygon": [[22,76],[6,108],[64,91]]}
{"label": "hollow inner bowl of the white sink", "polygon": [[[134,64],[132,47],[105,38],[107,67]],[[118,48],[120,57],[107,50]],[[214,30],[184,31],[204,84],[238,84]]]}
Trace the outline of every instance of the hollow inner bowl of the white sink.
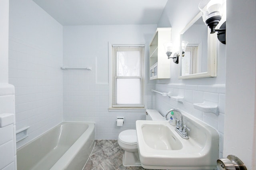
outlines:
{"label": "hollow inner bowl of the white sink", "polygon": [[179,150],[182,143],[171,129],[163,124],[143,124],[142,134],[145,143],[156,150]]}

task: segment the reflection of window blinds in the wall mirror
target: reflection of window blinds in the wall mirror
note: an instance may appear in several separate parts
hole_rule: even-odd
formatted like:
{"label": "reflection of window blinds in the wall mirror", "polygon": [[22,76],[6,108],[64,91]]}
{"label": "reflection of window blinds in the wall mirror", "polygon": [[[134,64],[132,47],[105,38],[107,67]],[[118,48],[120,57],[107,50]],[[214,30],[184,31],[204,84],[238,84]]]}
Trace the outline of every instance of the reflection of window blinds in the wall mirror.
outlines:
{"label": "reflection of window blinds in the wall mirror", "polygon": [[198,73],[198,46],[188,45],[182,57],[182,76]]}

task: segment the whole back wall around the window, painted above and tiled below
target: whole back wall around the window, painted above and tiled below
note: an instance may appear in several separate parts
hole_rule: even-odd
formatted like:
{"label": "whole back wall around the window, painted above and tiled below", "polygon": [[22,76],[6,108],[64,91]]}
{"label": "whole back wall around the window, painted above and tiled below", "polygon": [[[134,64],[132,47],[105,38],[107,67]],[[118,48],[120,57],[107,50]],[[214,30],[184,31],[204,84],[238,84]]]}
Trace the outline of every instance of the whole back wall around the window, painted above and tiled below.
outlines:
{"label": "whole back wall around the window, painted above and tiled below", "polygon": [[[108,42],[141,43],[151,41],[156,25],[64,26],[64,66],[92,67],[92,70],[64,70],[64,120],[96,122],[96,139],[118,139],[125,129],[135,129],[144,112],[108,111]],[[149,69],[149,68],[148,68]],[[148,85],[148,107],[153,107]],[[116,126],[116,117],[124,125]]]}

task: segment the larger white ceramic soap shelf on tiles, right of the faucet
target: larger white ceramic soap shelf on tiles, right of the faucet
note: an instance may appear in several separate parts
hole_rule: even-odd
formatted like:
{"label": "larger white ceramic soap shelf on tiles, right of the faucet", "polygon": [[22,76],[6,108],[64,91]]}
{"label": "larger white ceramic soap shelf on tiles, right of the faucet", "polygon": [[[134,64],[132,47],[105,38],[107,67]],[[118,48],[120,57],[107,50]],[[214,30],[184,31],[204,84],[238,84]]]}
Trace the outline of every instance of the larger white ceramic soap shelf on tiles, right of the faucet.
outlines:
{"label": "larger white ceramic soap shelf on tiles, right of the faucet", "polygon": [[204,101],[203,103],[194,103],[194,108],[203,112],[214,113],[219,115],[218,104],[213,102]]}

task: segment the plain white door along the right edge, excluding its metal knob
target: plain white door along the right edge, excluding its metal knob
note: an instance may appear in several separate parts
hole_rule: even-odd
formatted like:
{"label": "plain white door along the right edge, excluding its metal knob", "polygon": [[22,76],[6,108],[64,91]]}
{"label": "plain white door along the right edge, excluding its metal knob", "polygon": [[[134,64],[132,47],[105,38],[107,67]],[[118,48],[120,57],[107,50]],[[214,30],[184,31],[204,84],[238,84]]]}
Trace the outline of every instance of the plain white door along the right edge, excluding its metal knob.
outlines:
{"label": "plain white door along the right edge, excluding its metal knob", "polygon": [[238,156],[249,170],[256,169],[255,16],[255,0],[227,1],[224,156]]}

